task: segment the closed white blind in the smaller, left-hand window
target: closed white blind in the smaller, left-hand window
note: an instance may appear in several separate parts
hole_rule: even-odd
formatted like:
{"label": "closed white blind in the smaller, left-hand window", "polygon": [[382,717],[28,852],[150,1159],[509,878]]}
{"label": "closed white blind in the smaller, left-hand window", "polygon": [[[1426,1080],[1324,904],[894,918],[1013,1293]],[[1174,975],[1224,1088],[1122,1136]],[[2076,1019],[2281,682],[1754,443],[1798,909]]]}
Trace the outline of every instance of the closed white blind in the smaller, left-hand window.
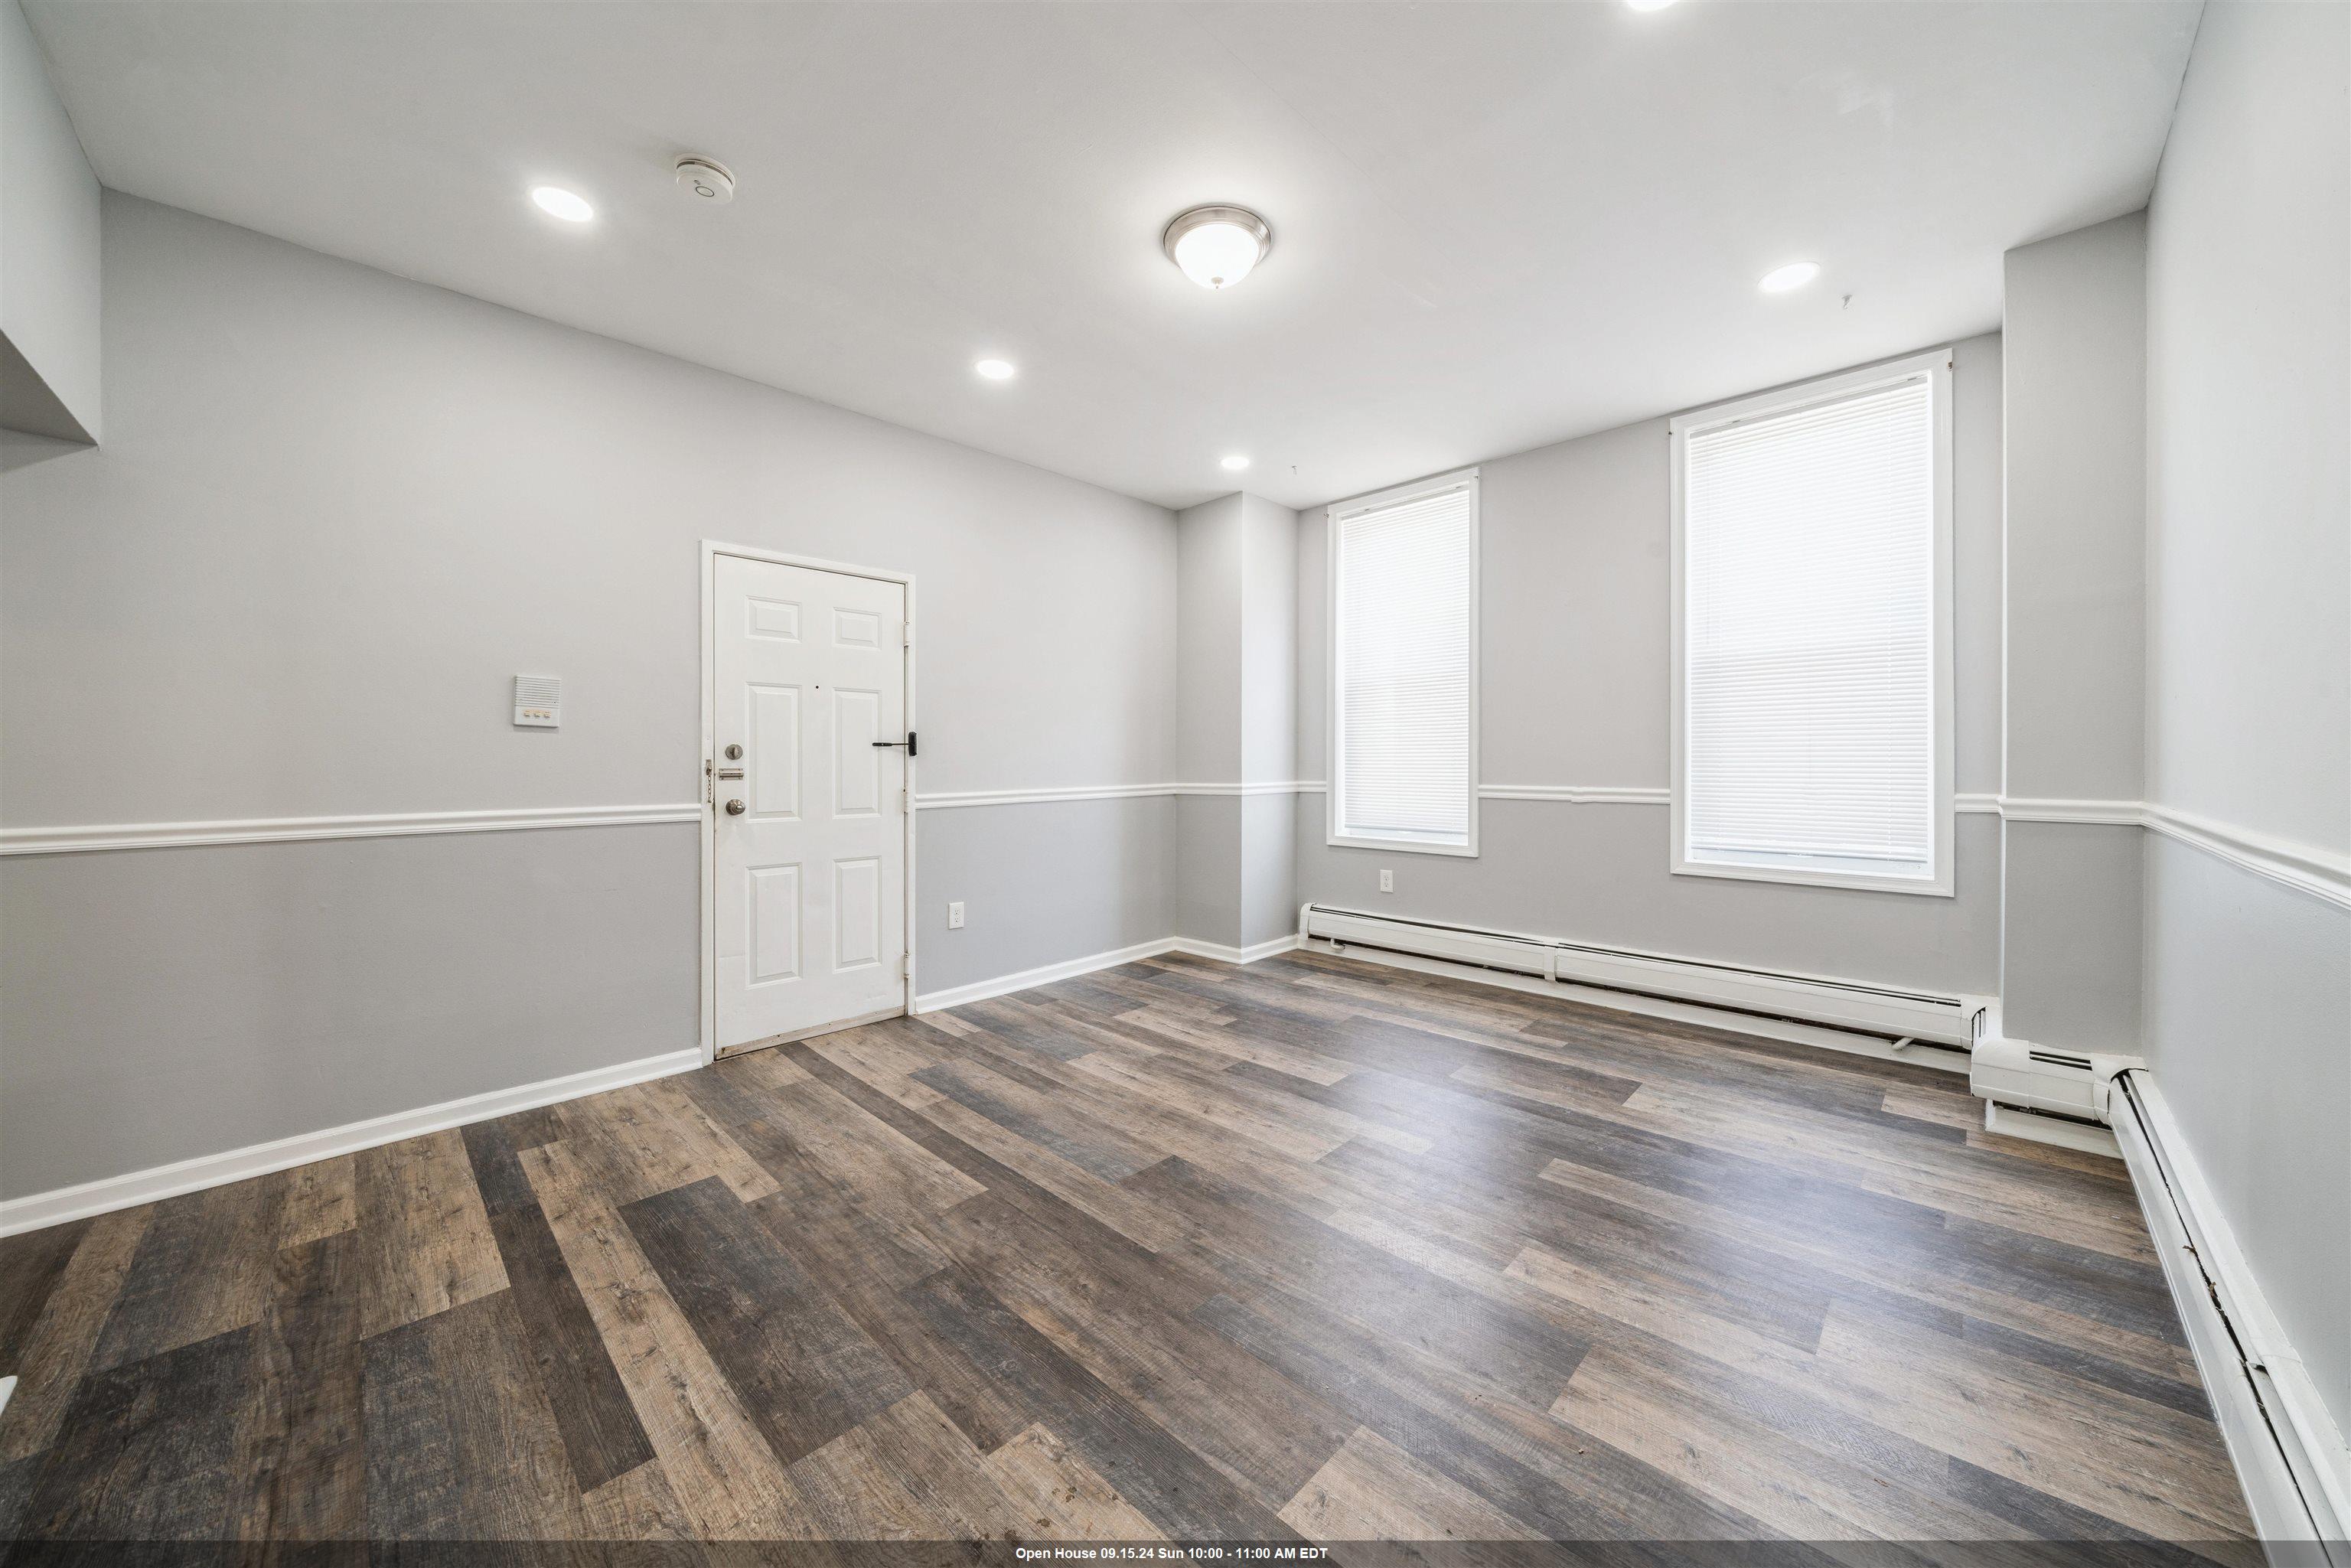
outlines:
{"label": "closed white blind in the smaller, left-hand window", "polygon": [[1469,853],[1476,480],[1331,524],[1331,837]]}

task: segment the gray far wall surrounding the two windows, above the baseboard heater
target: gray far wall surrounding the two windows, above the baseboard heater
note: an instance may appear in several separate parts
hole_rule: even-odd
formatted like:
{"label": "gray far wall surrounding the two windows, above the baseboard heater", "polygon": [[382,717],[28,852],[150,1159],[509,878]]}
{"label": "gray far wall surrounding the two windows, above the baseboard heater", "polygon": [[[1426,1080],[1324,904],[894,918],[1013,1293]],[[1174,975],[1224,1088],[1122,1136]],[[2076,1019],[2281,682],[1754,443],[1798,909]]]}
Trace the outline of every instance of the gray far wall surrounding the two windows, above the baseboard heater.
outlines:
{"label": "gray far wall surrounding the two windows, above the baseboard heater", "polygon": [[[1998,788],[2001,339],[1954,364],[1958,790]],[[1481,465],[1486,785],[1667,788],[1667,421]],[[1298,529],[1298,757],[1324,773],[1324,512]],[[1998,820],[1958,818],[1954,898],[1674,877],[1662,804],[1479,802],[1479,858],[1335,849],[1298,799],[1298,896],[1700,959],[1998,987]],[[1396,891],[1378,893],[1378,870]]]}

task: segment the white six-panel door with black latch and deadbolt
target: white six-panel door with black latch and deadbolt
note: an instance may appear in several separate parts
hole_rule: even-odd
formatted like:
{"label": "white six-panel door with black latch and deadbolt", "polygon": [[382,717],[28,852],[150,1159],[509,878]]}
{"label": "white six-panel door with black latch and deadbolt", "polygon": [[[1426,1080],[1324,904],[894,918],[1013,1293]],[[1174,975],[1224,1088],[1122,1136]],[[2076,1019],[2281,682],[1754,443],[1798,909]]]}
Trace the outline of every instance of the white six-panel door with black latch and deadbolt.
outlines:
{"label": "white six-panel door with black latch and deadbolt", "polygon": [[896,1013],[905,583],[717,555],[710,630],[717,1051]]}

